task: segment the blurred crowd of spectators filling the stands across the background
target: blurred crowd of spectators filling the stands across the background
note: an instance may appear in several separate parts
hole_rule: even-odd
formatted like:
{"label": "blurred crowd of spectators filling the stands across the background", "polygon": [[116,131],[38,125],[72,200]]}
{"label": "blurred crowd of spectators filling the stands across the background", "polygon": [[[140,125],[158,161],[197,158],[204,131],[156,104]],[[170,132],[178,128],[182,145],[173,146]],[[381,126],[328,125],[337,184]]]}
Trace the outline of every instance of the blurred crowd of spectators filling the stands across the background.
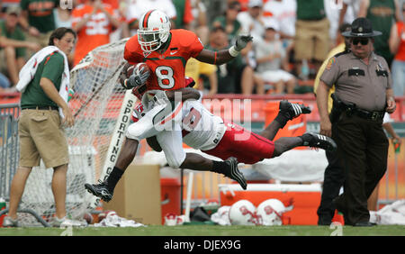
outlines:
{"label": "blurred crowd of spectators filling the stands across the background", "polygon": [[[48,44],[49,33],[71,27],[73,68],[94,48],[136,34],[149,9],[164,11],[172,28],[191,30],[207,49],[229,48],[238,33],[251,45],[221,66],[190,59],[186,75],[205,94],[302,94],[329,50],[341,43],[338,29],[358,16],[383,32],[375,51],[392,67],[395,95],[404,95],[404,0],[4,0],[0,4],[0,92],[15,91],[19,70]],[[380,40],[380,39],[379,39]],[[378,47],[378,49],[377,49]]]}

